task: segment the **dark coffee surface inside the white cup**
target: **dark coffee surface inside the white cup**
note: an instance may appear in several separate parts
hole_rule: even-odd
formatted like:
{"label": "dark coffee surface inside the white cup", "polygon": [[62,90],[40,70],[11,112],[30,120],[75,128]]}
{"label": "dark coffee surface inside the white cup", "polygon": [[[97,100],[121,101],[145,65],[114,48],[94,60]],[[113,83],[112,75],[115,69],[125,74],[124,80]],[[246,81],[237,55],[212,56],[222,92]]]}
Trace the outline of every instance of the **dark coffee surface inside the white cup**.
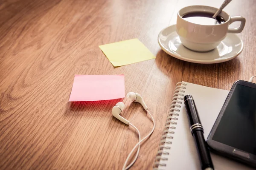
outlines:
{"label": "dark coffee surface inside the white cup", "polygon": [[212,17],[213,15],[214,14],[208,12],[191,12],[183,15],[182,18],[191,23],[201,25],[216,25],[225,22],[225,20],[221,16],[217,16],[215,19]]}

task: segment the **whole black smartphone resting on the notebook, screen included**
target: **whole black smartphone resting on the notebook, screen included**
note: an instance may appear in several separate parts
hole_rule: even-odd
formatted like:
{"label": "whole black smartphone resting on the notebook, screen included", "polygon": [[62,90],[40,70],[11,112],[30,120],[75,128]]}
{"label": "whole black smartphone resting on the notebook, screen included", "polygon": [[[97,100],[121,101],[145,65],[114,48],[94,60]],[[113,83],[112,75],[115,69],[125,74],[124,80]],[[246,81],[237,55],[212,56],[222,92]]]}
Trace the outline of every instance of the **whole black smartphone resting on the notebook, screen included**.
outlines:
{"label": "whole black smartphone resting on the notebook, screen included", "polygon": [[256,167],[256,84],[233,84],[207,144],[217,154]]}

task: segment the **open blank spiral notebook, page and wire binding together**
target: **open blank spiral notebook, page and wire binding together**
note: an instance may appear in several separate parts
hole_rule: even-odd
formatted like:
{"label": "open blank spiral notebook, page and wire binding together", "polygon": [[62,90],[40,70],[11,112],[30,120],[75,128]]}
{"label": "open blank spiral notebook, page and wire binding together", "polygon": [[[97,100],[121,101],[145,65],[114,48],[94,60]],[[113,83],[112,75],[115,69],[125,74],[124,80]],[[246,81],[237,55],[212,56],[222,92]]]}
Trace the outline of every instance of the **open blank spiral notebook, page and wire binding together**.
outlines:
{"label": "open blank spiral notebook, page and wire binding together", "polygon": [[[229,91],[178,82],[172,98],[153,170],[200,170],[200,161],[186,116],[183,96],[191,94],[207,139]],[[253,170],[244,164],[211,153],[215,170]]]}

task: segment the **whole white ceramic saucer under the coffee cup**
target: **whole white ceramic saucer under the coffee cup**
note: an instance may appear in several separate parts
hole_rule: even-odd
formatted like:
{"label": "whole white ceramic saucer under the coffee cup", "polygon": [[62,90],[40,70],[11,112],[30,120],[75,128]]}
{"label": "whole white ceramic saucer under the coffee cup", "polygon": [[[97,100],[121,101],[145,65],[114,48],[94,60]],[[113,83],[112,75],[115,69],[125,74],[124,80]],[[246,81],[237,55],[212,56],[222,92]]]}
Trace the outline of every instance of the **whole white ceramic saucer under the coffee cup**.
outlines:
{"label": "whole white ceramic saucer under the coffee cup", "polygon": [[211,64],[229,61],[236,58],[244,48],[242,40],[229,33],[214,50],[208,52],[191,51],[180,42],[176,25],[163,29],[158,35],[158,43],[167,54],[188,62]]}

